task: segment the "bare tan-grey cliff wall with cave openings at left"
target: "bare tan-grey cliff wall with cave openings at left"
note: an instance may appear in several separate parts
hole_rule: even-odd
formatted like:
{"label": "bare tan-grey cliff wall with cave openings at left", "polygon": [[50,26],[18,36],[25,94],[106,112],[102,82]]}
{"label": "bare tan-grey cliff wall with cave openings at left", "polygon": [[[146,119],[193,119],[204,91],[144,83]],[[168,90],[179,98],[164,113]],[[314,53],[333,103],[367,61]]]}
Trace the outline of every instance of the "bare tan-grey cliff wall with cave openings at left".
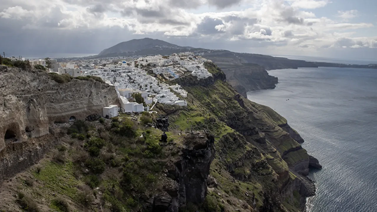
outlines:
{"label": "bare tan-grey cliff wall with cave openings at left", "polygon": [[[117,101],[115,89],[106,84],[82,80],[60,84],[45,72],[0,66],[0,154],[9,158],[9,145],[25,151],[32,142],[29,138],[48,135],[51,124],[67,122],[70,117],[85,119],[90,114],[102,114],[104,106]],[[43,147],[41,153],[43,149],[48,148]],[[40,158],[41,153],[33,157]],[[6,164],[0,166],[5,170]]]}

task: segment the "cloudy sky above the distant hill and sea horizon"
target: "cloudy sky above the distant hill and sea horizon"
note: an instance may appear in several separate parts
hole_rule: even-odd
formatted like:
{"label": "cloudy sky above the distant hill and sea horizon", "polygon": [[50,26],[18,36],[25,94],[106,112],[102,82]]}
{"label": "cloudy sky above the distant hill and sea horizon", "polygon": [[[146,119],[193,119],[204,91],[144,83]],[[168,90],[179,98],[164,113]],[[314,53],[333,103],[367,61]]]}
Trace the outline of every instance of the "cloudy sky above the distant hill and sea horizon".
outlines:
{"label": "cloudy sky above the distant hill and sea horizon", "polygon": [[1,0],[0,52],[98,54],[156,38],[267,55],[377,58],[376,0]]}

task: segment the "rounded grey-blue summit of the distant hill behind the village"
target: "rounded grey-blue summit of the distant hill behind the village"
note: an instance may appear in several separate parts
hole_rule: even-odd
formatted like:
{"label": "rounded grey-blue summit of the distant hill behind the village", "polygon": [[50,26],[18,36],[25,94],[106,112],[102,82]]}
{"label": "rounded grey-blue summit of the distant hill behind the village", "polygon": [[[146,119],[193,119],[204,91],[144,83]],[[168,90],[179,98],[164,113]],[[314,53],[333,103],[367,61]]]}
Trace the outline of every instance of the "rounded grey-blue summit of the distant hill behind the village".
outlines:
{"label": "rounded grey-blue summit of the distant hill behind the village", "polygon": [[133,39],[126,42],[118,43],[115,46],[112,46],[108,49],[104,49],[100,52],[98,55],[107,55],[107,54],[113,54],[113,53],[124,53],[124,52],[135,52],[140,51],[144,49],[152,49],[160,47],[161,49],[177,49],[181,48],[181,46],[168,43],[163,40],[158,39],[152,39],[152,38],[143,38],[143,39]]}

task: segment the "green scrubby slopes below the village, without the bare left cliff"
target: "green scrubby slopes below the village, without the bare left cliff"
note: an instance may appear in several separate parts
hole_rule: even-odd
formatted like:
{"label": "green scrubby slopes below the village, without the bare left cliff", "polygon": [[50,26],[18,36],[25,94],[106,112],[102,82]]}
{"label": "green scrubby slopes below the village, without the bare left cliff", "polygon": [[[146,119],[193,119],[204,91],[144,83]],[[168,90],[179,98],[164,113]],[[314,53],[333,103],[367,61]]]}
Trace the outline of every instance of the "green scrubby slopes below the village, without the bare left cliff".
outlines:
{"label": "green scrubby slopes below the village, without the bare left cliff", "polygon": [[3,183],[0,211],[302,211],[309,155],[285,118],[206,68],[213,78],[177,81],[187,107],[51,126],[59,144]]}

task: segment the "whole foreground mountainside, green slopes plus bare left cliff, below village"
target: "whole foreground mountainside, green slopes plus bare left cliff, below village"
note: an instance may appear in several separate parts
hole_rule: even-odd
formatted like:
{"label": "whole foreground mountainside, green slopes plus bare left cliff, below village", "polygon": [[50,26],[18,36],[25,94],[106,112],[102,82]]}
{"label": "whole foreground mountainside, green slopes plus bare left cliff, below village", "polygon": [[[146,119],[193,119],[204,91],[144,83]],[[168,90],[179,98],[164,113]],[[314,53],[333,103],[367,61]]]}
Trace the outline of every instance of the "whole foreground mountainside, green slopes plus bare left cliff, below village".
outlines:
{"label": "whole foreground mountainside, green slopes plus bare left cliff, below village", "polygon": [[205,67],[174,82],[187,106],[105,119],[113,86],[0,66],[0,211],[302,212],[318,161],[285,118]]}

